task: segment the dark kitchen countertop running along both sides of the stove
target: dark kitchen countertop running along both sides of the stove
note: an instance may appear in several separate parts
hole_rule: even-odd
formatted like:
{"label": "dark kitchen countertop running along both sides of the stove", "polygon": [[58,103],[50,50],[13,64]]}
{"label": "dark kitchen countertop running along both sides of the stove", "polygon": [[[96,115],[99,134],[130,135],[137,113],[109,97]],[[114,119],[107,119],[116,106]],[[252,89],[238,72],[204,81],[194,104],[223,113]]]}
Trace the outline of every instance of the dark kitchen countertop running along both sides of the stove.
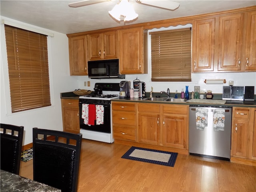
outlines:
{"label": "dark kitchen countertop running along both sides of the stove", "polygon": [[[94,94],[94,93],[92,92],[91,94]],[[60,93],[60,98],[61,99],[79,99],[79,96],[74,94],[73,92],[64,92],[64,93]],[[216,99],[222,99],[222,98],[218,97]],[[227,100],[225,104],[146,101],[146,100],[143,100],[143,98],[116,98],[116,99],[112,99],[112,101],[147,102],[147,103],[162,103],[162,104],[182,104],[182,105],[198,105],[198,106],[256,107],[256,101],[234,101],[234,100]]]}

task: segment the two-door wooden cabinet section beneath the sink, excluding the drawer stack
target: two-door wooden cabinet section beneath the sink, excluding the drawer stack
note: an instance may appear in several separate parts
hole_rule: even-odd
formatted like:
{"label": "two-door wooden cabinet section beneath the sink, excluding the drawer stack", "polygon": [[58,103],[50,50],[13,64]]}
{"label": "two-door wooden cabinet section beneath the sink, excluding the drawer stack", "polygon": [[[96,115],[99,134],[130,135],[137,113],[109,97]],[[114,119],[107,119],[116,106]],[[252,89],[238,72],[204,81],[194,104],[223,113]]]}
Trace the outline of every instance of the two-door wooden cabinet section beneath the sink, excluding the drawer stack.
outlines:
{"label": "two-door wooden cabinet section beneath the sink, excluding the drawer stack", "polygon": [[138,142],[188,150],[188,106],[138,104]]}

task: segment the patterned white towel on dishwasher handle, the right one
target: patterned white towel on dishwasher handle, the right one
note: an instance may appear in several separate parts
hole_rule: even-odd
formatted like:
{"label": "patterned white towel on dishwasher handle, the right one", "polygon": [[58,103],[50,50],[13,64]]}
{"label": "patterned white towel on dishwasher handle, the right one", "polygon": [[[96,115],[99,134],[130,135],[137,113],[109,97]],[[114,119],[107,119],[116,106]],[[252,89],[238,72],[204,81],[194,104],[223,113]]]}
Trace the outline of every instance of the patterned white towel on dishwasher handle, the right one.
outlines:
{"label": "patterned white towel on dishwasher handle, the right one", "polygon": [[213,130],[224,131],[225,126],[225,109],[213,110]]}

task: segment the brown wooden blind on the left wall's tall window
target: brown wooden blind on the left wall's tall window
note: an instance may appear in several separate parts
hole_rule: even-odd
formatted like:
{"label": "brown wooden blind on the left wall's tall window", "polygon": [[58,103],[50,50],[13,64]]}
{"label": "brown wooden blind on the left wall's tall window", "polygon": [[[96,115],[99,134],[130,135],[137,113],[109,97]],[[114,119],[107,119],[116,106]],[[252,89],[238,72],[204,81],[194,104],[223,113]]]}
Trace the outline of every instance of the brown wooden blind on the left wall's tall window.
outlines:
{"label": "brown wooden blind on the left wall's tall window", "polygon": [[5,25],[12,112],[50,106],[47,36]]}

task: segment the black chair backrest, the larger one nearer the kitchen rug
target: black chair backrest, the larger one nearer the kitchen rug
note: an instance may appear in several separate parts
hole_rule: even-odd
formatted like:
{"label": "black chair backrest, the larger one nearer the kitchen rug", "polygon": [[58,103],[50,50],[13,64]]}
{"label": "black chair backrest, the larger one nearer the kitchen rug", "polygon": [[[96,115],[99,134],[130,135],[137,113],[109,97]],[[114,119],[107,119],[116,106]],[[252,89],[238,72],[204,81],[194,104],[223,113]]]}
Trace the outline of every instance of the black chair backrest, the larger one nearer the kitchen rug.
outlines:
{"label": "black chair backrest, the larger one nearer the kitchen rug", "polygon": [[34,180],[76,192],[82,134],[33,128]]}

